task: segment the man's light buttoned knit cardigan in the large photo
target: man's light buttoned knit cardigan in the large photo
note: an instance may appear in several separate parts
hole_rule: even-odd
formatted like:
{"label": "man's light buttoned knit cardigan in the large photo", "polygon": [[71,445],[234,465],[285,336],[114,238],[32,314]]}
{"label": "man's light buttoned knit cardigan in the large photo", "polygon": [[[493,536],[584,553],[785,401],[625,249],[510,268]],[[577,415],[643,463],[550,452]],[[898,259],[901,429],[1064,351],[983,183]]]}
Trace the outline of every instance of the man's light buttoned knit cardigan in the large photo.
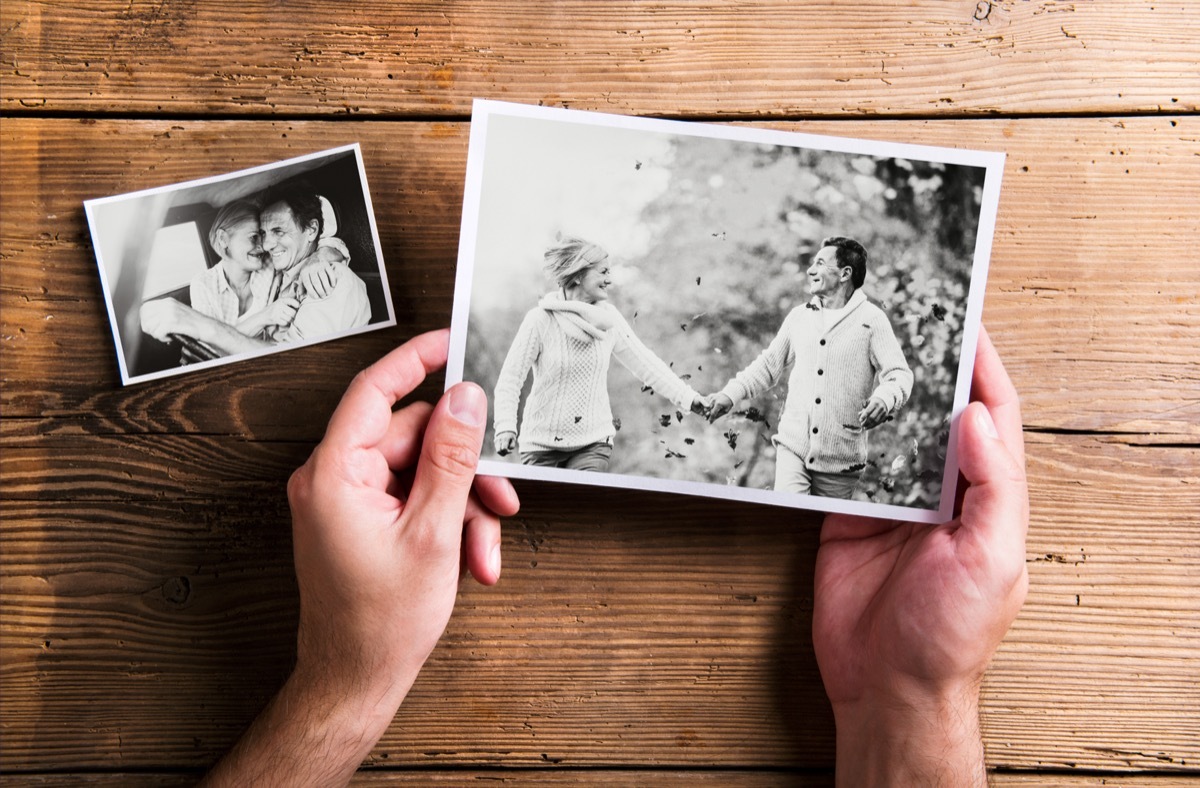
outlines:
{"label": "man's light buttoned knit cardigan in the large photo", "polygon": [[[912,371],[888,315],[854,290],[826,330],[820,305],[796,307],[762,354],[721,391],[734,403],[787,379],[787,401],[772,440],[817,473],[854,473],[866,463],[858,411],[870,398],[894,414],[912,392]],[[878,384],[876,385],[876,379]]]}

